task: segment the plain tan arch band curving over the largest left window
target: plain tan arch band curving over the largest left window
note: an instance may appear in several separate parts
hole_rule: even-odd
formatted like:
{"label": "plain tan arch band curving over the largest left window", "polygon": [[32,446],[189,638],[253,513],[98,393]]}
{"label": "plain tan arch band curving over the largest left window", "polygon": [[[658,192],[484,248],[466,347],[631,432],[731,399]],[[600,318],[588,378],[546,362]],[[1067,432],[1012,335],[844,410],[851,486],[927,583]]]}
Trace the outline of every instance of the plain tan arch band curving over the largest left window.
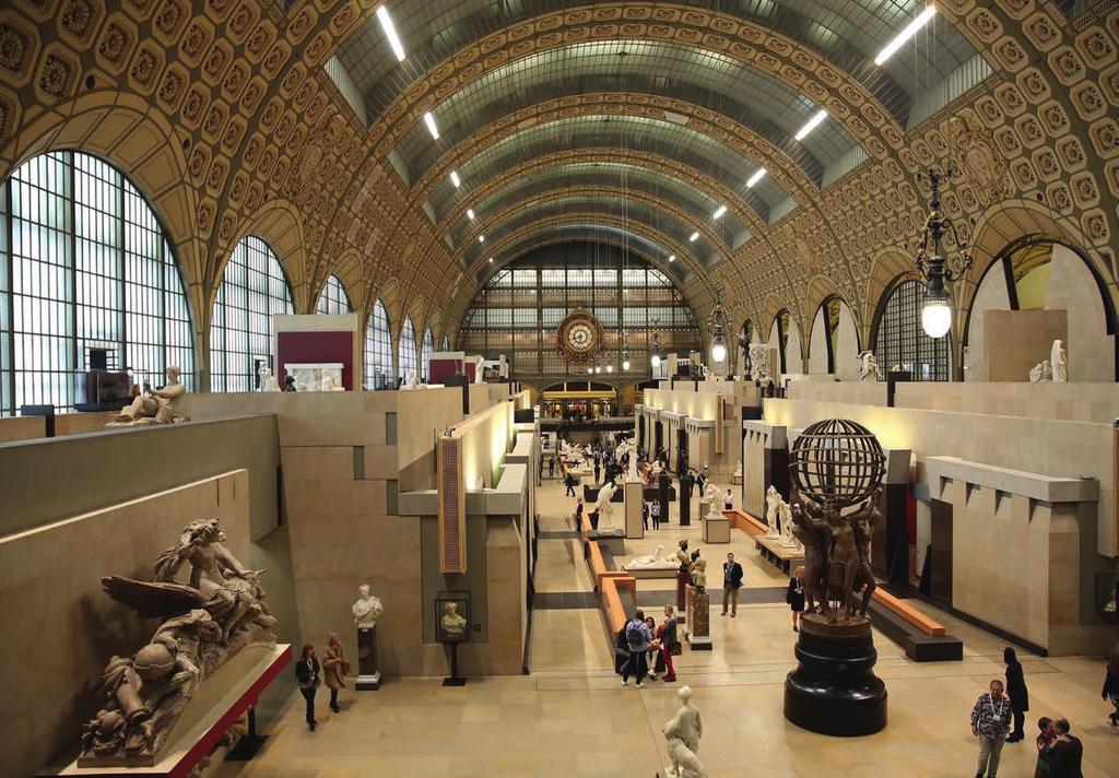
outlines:
{"label": "plain tan arch band curving over the largest left window", "polygon": [[123,92],[114,92],[112,102],[87,93],[54,104],[25,124],[19,119],[17,113],[12,123],[18,133],[0,146],[0,181],[39,154],[84,151],[112,162],[147,198],[175,246],[191,307],[195,354],[201,363],[208,353],[204,335],[209,331],[206,247],[195,225],[197,195],[170,122],[142,97]]}

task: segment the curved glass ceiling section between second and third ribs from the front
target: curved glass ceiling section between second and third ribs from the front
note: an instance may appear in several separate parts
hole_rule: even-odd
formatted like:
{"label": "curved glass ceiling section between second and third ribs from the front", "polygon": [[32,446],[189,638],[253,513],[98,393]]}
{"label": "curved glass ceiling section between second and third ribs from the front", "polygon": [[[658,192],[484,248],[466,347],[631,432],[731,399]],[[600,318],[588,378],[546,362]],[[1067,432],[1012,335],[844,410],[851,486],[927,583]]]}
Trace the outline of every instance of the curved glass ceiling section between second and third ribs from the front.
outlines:
{"label": "curved glass ceiling section between second and third ribs from the front", "polygon": [[[770,209],[789,197],[772,176],[746,187],[746,180],[760,166],[714,138],[664,120],[595,115],[537,124],[495,143],[459,168],[461,189],[444,178],[432,193],[431,203],[442,218],[458,197],[469,197],[471,187],[501,171],[537,157],[584,148],[632,149],[678,160],[733,190],[764,222],[769,221]],[[478,208],[474,210],[481,214]]]}

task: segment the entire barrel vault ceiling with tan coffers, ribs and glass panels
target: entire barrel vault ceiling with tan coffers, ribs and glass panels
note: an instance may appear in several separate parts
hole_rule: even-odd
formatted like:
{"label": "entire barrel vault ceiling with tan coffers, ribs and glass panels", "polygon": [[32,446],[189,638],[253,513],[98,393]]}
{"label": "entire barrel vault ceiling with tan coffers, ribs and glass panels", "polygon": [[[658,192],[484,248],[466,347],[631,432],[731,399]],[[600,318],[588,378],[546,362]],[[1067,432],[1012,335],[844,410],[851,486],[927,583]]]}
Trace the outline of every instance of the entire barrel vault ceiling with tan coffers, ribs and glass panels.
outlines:
{"label": "entire barrel vault ceiling with tan coffers, ribs and glass panels", "polygon": [[803,330],[839,294],[865,332],[909,266],[918,174],[949,162],[966,238],[1054,233],[1115,296],[1119,10],[942,0],[875,64],[927,4],[12,0],[0,174],[104,153],[199,311],[255,232],[300,309],[336,273],[452,339],[492,272],[563,240],[633,246],[700,313],[717,289],[737,321]]}

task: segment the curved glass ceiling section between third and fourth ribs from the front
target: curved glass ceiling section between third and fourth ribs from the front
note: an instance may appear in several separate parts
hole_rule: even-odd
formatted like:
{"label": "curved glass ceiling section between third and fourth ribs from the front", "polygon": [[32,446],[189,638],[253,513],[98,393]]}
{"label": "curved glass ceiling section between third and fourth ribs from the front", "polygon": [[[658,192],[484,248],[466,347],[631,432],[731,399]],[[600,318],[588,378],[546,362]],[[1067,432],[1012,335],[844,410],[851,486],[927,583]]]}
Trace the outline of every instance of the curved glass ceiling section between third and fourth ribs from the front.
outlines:
{"label": "curved glass ceiling section between third and fourth ribs from the front", "polygon": [[[488,214],[505,212],[519,201],[563,186],[632,189],[675,203],[677,207],[688,212],[696,224],[707,224],[723,240],[724,249],[737,247],[750,236],[746,227],[730,209],[722,218],[712,218],[715,209],[723,204],[711,195],[662,172],[631,165],[581,162],[544,170],[510,182],[480,200],[474,210],[485,219]],[[450,234],[455,245],[469,238],[473,228],[474,223],[466,217],[453,225]]]}

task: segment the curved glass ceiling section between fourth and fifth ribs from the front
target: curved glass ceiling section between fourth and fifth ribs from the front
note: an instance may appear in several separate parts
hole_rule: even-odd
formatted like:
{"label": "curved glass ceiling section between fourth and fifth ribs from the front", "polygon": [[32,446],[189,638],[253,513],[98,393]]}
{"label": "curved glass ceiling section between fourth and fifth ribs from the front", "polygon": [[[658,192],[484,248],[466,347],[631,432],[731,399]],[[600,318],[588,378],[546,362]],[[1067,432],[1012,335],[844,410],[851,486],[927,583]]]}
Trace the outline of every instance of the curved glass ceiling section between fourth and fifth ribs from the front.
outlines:
{"label": "curved glass ceiling section between fourth and fifth ribs from the front", "polygon": [[535,201],[526,200],[520,209],[504,218],[500,224],[487,229],[486,243],[472,241],[466,247],[462,256],[463,266],[469,268],[476,262],[490,256],[492,254],[490,246],[496,245],[502,235],[515,233],[517,229],[533,222],[565,216],[571,213],[596,214],[645,224],[662,232],[677,243],[687,246],[689,253],[708,268],[722,259],[716,247],[708,242],[706,235],[700,234],[694,242],[688,241],[688,236],[692,235],[695,227],[692,224],[681,222],[673,214],[643,203],[630,201],[623,204],[619,200],[587,195],[545,197]]}

